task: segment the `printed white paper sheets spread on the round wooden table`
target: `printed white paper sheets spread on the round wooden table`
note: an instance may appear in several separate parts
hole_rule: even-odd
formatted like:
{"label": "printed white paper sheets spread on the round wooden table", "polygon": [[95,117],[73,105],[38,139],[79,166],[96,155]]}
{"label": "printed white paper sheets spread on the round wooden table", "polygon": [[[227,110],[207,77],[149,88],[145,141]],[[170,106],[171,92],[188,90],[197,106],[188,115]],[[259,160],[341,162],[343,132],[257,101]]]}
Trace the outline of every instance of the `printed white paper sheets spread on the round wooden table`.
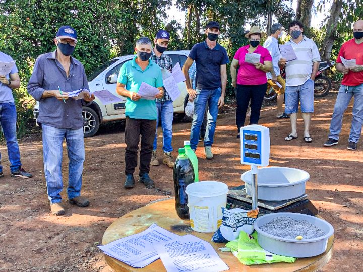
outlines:
{"label": "printed white paper sheets spread on the round wooden table", "polygon": [[143,268],[160,257],[168,272],[229,270],[210,243],[193,235],[176,235],[156,224],[98,247],[106,255],[135,268]]}

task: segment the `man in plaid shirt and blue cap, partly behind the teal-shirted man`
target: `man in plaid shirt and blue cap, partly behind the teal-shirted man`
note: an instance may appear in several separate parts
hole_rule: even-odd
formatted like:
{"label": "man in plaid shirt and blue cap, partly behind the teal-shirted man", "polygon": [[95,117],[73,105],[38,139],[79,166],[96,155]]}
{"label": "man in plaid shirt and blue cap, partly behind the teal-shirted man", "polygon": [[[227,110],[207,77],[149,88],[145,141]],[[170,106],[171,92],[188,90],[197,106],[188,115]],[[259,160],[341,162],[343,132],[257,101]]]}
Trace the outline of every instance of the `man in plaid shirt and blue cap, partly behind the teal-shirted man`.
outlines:
{"label": "man in plaid shirt and blue cap, partly behind the teal-shirted man", "polygon": [[[151,60],[160,66],[161,69],[166,69],[171,72],[172,69],[172,60],[170,57],[164,55],[163,53],[167,49],[169,43],[170,35],[165,30],[159,30],[156,33],[156,37],[154,39],[155,47],[152,51]],[[161,127],[163,130],[163,151],[164,158],[163,164],[166,164],[170,168],[174,167],[174,158],[171,156],[172,146],[172,121],[174,114],[173,102],[167,93],[164,91],[164,95],[162,98],[156,99],[156,107],[158,110],[158,116],[156,119],[156,131],[155,131],[155,139],[154,139],[154,150],[152,152],[151,157],[151,165],[159,165],[159,160],[156,156],[156,148],[157,148],[157,128],[161,118]]]}

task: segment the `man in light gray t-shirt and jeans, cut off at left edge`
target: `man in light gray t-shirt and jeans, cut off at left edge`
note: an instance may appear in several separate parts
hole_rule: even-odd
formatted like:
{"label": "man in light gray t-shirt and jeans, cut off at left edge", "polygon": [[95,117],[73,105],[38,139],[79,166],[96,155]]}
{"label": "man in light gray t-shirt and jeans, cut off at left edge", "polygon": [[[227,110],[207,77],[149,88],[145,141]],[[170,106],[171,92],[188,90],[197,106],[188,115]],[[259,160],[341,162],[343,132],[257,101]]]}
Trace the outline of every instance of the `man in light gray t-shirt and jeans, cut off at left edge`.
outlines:
{"label": "man in light gray t-shirt and jeans, cut off at left edge", "polygon": [[[0,70],[0,124],[3,128],[7,143],[10,172],[12,177],[31,178],[32,174],[22,168],[19,145],[16,137],[17,112],[12,89],[18,89],[20,87],[18,69],[12,57],[3,52],[0,52],[0,62],[13,65],[7,75],[2,75],[3,70]],[[0,165],[0,177],[4,177],[2,165]]]}

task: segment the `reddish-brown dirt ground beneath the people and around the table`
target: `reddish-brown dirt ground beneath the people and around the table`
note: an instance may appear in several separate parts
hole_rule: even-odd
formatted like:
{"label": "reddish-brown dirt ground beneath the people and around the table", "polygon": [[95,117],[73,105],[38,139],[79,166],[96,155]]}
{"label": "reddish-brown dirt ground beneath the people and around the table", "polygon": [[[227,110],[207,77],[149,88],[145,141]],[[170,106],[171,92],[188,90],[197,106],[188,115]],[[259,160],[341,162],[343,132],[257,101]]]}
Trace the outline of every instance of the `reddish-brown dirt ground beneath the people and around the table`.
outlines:
{"label": "reddish-brown dirt ground beneath the people and around the table", "polygon": [[[324,271],[362,271],[363,145],[359,143],[356,151],[347,150],[350,105],[344,115],[339,144],[332,148],[322,146],[327,139],[335,98],[336,92],[333,92],[316,99],[311,144],[303,141],[301,116],[299,138],[290,142],[283,140],[290,132],[289,120],[276,119],[274,105],[263,108],[260,124],[270,128],[270,165],[308,171],[309,199],[319,209],[320,216],[334,226],[334,254]],[[197,149],[199,176],[201,180],[223,181],[232,187],[241,185],[240,175],[249,168],[240,164],[234,109],[229,106],[230,112],[224,111],[227,112],[220,114],[217,122],[214,160],[205,159],[202,144]],[[177,148],[189,139],[190,123],[177,123],[173,129],[173,155],[176,156]],[[33,173],[32,179],[11,178],[4,143],[0,148],[5,175],[0,179],[0,271],[111,271],[96,247],[104,231],[131,210],[173,197],[172,169],[165,165],[151,167],[155,189],[147,189],[140,183],[134,189],[124,189],[124,131],[120,125],[103,128],[99,134],[85,139],[82,194],[89,198],[91,205],[71,206],[63,192],[67,212],[57,217],[49,213],[42,142],[32,139],[19,141],[23,166]],[[158,143],[161,148],[160,134]],[[64,177],[68,175],[67,164],[64,149]]]}

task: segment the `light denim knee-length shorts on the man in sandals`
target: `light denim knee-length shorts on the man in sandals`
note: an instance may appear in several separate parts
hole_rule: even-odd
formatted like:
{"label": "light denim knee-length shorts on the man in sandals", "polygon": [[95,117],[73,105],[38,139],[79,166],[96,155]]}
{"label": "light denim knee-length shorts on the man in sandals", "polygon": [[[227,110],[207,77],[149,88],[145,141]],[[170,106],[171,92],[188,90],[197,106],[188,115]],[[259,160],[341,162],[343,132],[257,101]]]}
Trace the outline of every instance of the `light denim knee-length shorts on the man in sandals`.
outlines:
{"label": "light denim knee-length shorts on the man in sandals", "polygon": [[314,112],[314,81],[308,79],[298,86],[286,86],[285,113],[291,114],[298,111],[298,102],[301,103],[301,112]]}

